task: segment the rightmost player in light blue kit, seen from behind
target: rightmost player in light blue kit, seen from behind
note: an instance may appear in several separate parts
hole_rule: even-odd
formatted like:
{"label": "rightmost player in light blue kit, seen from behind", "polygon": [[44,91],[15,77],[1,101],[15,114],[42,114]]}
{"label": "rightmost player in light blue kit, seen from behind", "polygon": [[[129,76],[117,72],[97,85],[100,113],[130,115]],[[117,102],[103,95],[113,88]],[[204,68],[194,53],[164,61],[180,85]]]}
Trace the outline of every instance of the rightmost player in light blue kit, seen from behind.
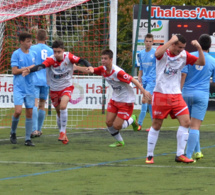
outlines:
{"label": "rightmost player in light blue kit, seen from behind", "polygon": [[[208,107],[211,76],[213,76],[213,82],[215,82],[215,59],[208,54],[211,47],[210,36],[202,34],[199,37],[199,43],[204,51],[205,66],[195,64],[185,66],[182,70],[181,80],[183,98],[188,105],[191,116],[186,156],[192,158],[195,152],[195,159],[203,157],[200,149],[199,129]],[[198,57],[198,52],[191,54]]]}

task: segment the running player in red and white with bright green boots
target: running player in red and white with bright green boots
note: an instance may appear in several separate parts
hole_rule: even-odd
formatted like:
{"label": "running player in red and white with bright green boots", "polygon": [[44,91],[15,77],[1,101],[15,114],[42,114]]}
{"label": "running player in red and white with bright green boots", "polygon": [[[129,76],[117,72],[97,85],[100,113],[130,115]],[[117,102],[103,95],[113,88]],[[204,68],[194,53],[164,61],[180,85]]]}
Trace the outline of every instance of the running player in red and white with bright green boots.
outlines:
{"label": "running player in red and white with bright green boots", "polygon": [[[130,85],[134,83],[137,88],[141,90],[144,98],[151,99],[151,94],[143,89],[141,84],[132,76],[124,72],[120,67],[113,64],[113,52],[109,49],[102,51],[101,64],[97,68],[79,67],[76,69],[85,73],[94,73],[102,75],[109,85],[113,88],[112,98],[110,99],[107,107],[106,125],[110,134],[116,139],[116,142],[109,145],[110,147],[124,146],[124,140],[120,134],[120,129],[124,129],[132,124],[133,129],[137,130],[137,118],[132,115],[135,94],[133,87]],[[131,116],[132,115],[132,116]]]}

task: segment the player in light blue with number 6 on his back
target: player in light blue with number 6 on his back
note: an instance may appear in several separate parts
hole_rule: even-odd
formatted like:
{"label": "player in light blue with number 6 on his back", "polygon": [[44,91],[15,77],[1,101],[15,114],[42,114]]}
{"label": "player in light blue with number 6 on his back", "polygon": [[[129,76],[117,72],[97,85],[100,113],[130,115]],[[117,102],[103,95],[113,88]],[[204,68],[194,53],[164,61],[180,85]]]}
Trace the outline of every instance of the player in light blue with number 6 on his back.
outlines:
{"label": "player in light blue with number 6 on his back", "polygon": [[[53,50],[45,44],[46,40],[46,31],[39,29],[37,32],[37,44],[30,48],[37,53],[36,64],[42,64],[47,57],[53,55]],[[33,108],[33,129],[31,138],[34,138],[42,135],[41,129],[46,116],[45,103],[48,97],[49,87],[46,82],[46,69],[34,72],[32,76],[35,91],[35,106]]]}

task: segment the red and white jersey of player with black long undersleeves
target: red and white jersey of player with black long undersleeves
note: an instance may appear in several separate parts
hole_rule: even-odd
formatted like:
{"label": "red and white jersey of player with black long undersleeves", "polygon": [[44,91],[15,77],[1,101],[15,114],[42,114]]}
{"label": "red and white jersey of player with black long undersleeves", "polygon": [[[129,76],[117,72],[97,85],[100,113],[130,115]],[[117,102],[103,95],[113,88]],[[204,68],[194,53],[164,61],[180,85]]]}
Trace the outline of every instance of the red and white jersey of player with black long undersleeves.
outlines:
{"label": "red and white jersey of player with black long undersleeves", "polygon": [[63,55],[61,62],[57,61],[54,55],[43,62],[51,91],[61,91],[72,85],[73,63],[78,63],[80,58],[70,52],[64,52]]}

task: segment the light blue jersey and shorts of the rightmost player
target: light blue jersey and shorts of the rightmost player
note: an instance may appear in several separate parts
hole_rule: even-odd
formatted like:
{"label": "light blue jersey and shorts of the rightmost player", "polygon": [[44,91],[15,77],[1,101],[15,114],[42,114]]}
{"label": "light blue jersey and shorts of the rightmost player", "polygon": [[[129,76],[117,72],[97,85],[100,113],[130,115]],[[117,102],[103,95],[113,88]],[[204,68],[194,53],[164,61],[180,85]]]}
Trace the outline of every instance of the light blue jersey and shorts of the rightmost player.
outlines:
{"label": "light blue jersey and shorts of the rightmost player", "polygon": [[[198,57],[198,52],[191,53]],[[210,77],[215,82],[215,59],[204,52],[205,66],[187,65],[182,69],[187,77],[182,89],[182,95],[186,101],[190,115],[198,120],[204,120],[208,107]]]}

